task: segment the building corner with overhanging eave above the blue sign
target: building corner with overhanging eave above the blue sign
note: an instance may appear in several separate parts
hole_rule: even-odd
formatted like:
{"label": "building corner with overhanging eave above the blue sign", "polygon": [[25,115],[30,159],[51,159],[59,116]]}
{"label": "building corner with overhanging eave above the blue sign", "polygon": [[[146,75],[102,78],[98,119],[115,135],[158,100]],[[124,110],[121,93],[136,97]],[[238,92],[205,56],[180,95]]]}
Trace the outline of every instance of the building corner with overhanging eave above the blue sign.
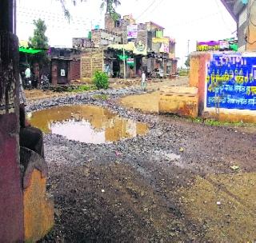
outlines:
{"label": "building corner with overhanging eave above the blue sign", "polygon": [[256,3],[253,0],[221,0],[238,28],[238,50],[256,50]]}

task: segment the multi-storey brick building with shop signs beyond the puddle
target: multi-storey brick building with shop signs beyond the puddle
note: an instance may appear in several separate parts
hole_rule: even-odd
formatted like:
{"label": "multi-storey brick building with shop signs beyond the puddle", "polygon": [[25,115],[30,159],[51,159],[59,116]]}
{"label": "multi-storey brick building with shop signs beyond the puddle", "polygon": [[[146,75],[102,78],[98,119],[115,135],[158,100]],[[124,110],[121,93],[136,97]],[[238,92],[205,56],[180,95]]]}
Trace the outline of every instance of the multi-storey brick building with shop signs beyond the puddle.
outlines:
{"label": "multi-storey brick building with shop signs beyond the puddle", "polygon": [[175,40],[164,36],[162,26],[136,24],[131,15],[113,20],[106,14],[105,30],[91,30],[90,38],[74,38],[73,46],[82,49],[82,80],[95,70],[113,78],[140,77],[142,71],[151,75],[156,69],[170,76],[177,70]]}

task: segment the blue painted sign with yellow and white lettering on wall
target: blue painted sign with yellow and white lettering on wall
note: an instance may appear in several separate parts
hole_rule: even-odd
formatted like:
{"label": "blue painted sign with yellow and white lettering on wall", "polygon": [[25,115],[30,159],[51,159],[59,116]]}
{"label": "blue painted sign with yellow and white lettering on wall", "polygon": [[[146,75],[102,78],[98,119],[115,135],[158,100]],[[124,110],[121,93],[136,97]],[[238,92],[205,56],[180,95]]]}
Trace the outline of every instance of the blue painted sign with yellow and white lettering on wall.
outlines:
{"label": "blue painted sign with yellow and white lettering on wall", "polygon": [[206,99],[207,107],[256,110],[256,54],[213,54]]}

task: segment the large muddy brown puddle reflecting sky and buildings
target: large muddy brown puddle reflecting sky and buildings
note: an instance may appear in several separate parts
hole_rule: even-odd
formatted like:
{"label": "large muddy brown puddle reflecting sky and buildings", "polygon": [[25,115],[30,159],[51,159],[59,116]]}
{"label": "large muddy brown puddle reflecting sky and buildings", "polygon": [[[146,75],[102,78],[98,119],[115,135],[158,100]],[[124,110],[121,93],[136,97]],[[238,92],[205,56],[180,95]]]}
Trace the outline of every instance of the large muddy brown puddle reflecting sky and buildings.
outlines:
{"label": "large muddy brown puddle reflecting sky and buildings", "polygon": [[70,140],[108,143],[145,135],[146,124],[118,117],[98,106],[61,106],[28,114],[31,125]]}

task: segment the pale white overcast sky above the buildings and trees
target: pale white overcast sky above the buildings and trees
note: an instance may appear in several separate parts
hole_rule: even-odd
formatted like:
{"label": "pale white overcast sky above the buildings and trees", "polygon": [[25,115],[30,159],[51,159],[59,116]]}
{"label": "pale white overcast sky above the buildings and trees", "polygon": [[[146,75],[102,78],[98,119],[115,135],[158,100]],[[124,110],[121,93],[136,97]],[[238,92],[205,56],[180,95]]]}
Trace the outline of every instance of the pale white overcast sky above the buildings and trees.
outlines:
{"label": "pale white overcast sky above the buildings and trees", "polygon": [[[50,46],[72,46],[73,37],[86,37],[99,25],[104,28],[101,0],[86,0],[76,6],[66,0],[71,20],[64,18],[58,0],[17,0],[17,34],[21,40],[33,35],[33,20],[46,22]],[[197,41],[236,37],[236,23],[220,0],[120,0],[119,14],[132,14],[137,23],[156,22],[165,27],[165,36],[175,38],[178,66],[184,66]]]}

